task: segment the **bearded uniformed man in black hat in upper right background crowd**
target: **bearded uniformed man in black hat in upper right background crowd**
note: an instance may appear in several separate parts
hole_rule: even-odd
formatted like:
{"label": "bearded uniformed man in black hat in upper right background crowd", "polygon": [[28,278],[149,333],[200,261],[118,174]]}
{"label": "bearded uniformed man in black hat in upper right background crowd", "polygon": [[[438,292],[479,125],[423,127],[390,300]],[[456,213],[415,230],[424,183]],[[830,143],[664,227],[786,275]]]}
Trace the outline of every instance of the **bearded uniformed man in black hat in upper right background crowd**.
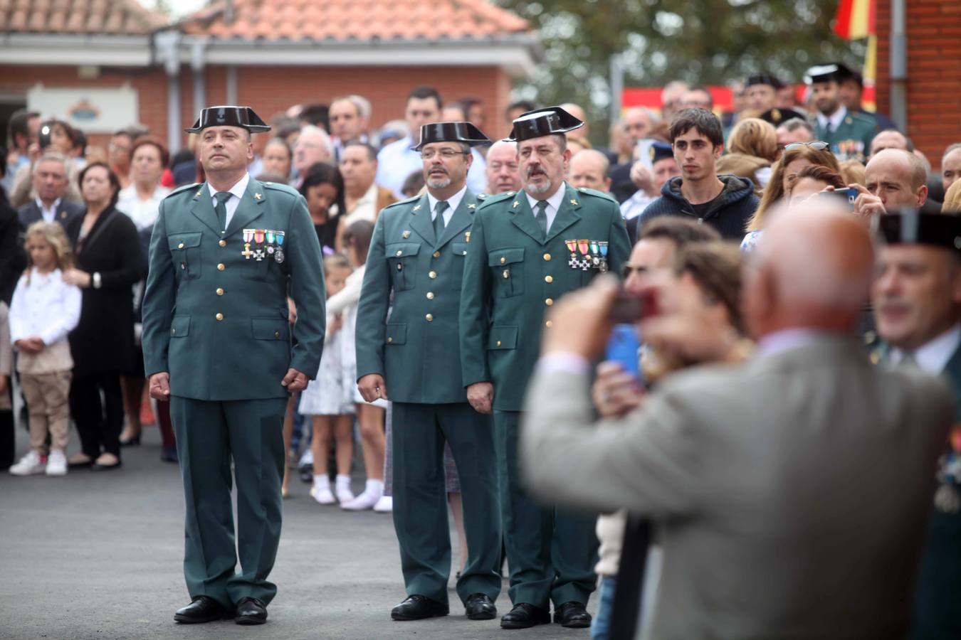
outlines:
{"label": "bearded uniformed man in black hat in upper right background crowd", "polygon": [[860,162],[871,150],[871,141],[877,132],[877,123],[863,113],[851,112],[841,102],[841,85],[844,72],[838,64],[822,64],[807,70],[807,83],[817,109],[817,126],[814,137],[830,145],[838,162],[851,158]]}

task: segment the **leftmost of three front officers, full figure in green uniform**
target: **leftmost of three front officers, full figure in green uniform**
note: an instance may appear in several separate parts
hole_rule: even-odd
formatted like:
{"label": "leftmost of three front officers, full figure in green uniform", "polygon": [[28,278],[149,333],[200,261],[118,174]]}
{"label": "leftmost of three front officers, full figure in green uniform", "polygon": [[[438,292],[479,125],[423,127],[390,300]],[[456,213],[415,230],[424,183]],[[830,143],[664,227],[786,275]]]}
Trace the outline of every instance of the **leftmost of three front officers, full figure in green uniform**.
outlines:
{"label": "leftmost of three front officers, full figure in green uniform", "polygon": [[184,478],[191,603],[174,615],[181,623],[266,621],[277,593],[267,576],[281,535],[283,413],[324,344],[323,269],[307,203],[247,174],[251,133],[269,129],[249,107],[205,108],[187,131],[200,133],[208,181],[160,202],[150,242],[143,355],[151,396],[170,400]]}

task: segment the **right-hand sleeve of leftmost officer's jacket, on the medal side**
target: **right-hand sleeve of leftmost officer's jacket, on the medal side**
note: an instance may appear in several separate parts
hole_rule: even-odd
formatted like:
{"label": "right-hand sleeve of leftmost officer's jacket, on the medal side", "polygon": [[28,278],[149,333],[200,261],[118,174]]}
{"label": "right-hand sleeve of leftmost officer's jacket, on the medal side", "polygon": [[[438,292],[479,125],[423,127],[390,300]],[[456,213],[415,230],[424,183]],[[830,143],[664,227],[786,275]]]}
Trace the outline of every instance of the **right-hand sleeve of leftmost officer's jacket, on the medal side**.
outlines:
{"label": "right-hand sleeve of leftmost officer's jacket, on the medal side", "polygon": [[327,287],[324,284],[324,262],[317,234],[310,222],[307,201],[298,196],[290,211],[290,296],[297,305],[294,322],[294,344],[290,367],[313,379],[320,367],[327,328]]}

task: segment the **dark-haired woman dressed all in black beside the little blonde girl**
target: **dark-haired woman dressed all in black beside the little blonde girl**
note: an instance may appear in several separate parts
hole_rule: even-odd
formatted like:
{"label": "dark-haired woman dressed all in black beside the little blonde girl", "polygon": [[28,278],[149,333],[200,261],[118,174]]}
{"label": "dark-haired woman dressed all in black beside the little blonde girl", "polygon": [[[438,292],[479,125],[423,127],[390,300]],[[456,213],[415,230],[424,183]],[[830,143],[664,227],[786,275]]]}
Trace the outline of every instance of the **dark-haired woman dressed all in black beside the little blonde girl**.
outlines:
{"label": "dark-haired woman dressed all in black beside the little blonde girl", "polygon": [[63,279],[83,294],[80,323],[70,334],[70,413],[83,452],[69,462],[115,469],[123,426],[120,376],[136,371],[133,285],[143,276],[140,246],[136,226],[116,209],[120,181],[110,166],[86,165],[79,183],[86,211],[67,223],[76,267]]}

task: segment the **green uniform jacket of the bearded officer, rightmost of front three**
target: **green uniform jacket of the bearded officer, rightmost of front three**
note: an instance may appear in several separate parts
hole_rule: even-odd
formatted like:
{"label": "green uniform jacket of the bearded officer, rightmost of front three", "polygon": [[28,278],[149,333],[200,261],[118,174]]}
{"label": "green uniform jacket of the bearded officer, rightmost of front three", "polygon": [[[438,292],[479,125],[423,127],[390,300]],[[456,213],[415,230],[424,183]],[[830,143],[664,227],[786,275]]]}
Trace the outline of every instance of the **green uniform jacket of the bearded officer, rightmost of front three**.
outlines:
{"label": "green uniform jacket of the bearded officer, rightmost of front three", "polygon": [[[628,260],[628,231],[617,202],[599,191],[564,188],[546,240],[523,191],[491,196],[475,216],[460,300],[463,382],[493,382],[498,411],[521,410],[547,307],[600,273],[597,266],[571,267],[566,241],[607,243],[610,273],[620,275]],[[585,249],[599,254],[590,244]]]}

